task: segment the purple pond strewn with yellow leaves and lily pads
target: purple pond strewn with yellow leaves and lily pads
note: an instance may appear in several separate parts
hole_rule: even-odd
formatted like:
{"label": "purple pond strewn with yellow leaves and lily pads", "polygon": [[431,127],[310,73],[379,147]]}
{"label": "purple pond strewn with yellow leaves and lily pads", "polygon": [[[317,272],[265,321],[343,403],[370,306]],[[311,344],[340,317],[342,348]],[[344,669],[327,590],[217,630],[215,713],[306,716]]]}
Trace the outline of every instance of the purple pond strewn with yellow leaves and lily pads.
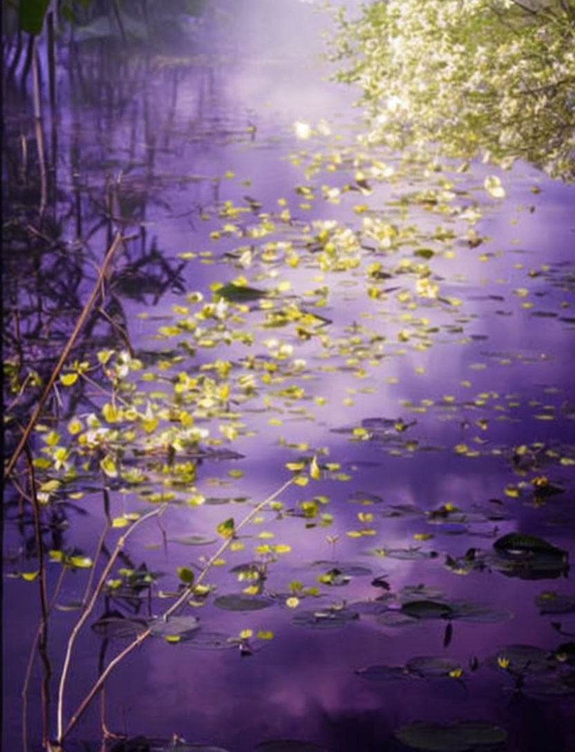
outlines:
{"label": "purple pond strewn with yellow leaves and lily pads", "polygon": [[208,5],[5,84],[3,748],[568,752],[575,189]]}

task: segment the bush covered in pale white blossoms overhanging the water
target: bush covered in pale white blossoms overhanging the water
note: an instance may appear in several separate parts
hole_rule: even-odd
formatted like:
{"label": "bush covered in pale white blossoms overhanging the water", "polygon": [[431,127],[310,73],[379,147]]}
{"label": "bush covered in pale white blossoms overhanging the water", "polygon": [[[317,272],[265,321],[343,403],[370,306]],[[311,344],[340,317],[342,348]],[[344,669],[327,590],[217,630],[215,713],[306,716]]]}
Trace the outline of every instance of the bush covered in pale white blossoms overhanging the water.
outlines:
{"label": "bush covered in pale white blossoms overhanging the water", "polygon": [[[340,80],[358,83],[366,140],[431,144],[575,178],[575,3],[388,0],[340,17]],[[534,8],[534,11],[529,10]]]}

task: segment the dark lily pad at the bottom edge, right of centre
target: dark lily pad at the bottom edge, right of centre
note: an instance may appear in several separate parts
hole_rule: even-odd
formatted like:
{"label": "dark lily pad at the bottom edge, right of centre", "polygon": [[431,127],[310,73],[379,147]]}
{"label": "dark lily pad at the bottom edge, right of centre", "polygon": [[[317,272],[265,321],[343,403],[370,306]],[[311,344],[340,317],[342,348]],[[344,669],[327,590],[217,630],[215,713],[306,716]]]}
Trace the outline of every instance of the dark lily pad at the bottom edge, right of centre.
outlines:
{"label": "dark lily pad at the bottom edge, right of centre", "polygon": [[479,745],[482,749],[489,749],[507,738],[507,732],[501,726],[481,720],[458,723],[416,721],[401,726],[395,735],[410,747],[434,752],[468,752]]}

